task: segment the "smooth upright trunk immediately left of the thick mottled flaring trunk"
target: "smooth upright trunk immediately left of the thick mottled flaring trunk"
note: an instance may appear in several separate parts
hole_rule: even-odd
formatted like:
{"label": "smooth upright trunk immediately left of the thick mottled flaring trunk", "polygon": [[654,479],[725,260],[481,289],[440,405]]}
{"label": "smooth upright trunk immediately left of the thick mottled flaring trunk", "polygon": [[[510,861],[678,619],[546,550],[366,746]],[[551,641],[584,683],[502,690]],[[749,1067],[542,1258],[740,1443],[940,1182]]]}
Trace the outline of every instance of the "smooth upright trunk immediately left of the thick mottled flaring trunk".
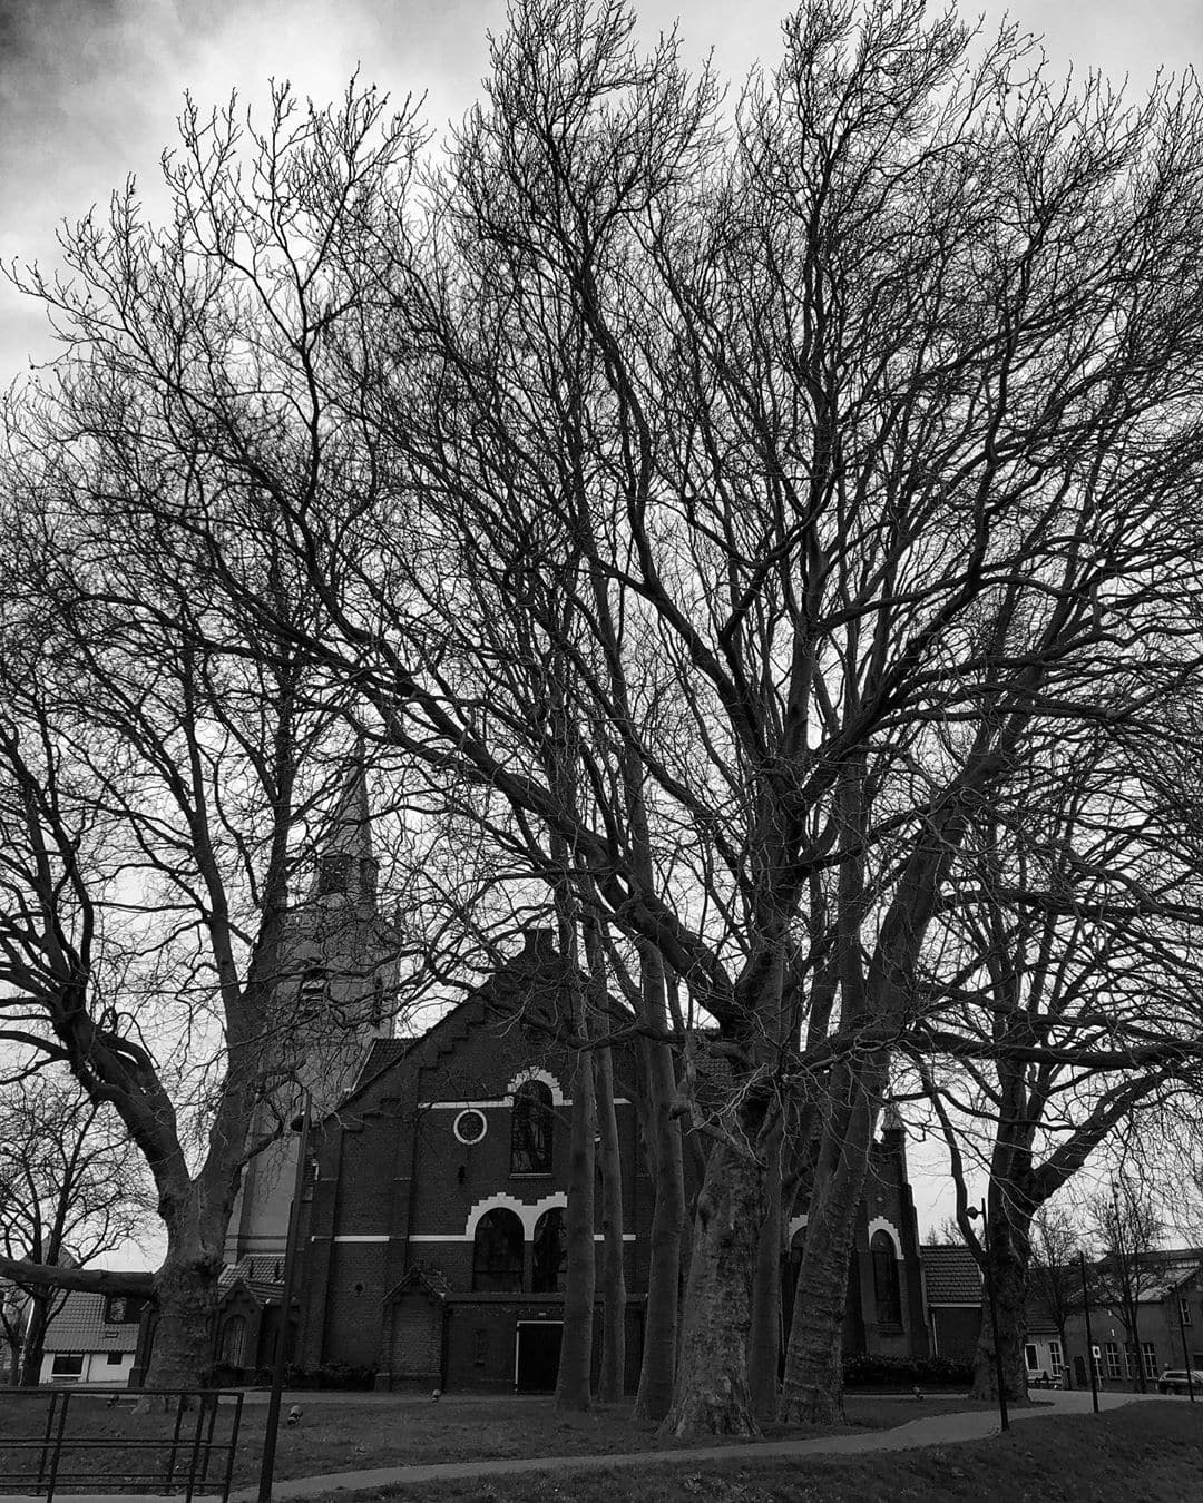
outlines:
{"label": "smooth upright trunk immediately left of the thick mottled flaring trunk", "polygon": [[686,1219],[686,1175],[681,1127],[672,1117],[677,1073],[665,1043],[648,1046],[648,1094],[654,1166],[648,1303],[644,1320],[644,1356],[635,1419],[660,1423],[672,1405],[677,1374],[677,1306],[681,1282],[681,1234]]}

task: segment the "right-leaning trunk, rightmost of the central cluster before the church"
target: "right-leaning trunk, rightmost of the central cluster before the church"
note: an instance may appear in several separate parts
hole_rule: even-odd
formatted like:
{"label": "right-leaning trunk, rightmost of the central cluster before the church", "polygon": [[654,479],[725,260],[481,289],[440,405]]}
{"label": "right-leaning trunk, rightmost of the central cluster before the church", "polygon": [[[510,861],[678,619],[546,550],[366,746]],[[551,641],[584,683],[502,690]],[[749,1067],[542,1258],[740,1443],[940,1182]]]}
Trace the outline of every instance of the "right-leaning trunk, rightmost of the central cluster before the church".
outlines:
{"label": "right-leaning trunk, rightmost of the central cluster before the church", "polygon": [[832,1091],[848,1106],[836,1108],[824,1129],[785,1353],[780,1417],[797,1423],[844,1420],[848,1258],[874,1132],[877,1094],[856,1070],[838,1070]]}

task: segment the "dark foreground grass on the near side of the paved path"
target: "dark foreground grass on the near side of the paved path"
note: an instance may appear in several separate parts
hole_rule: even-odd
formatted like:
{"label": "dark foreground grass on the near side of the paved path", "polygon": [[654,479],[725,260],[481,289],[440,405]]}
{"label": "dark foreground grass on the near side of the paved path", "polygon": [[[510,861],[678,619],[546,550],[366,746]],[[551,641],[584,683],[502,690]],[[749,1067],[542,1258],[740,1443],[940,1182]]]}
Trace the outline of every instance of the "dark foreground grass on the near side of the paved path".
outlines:
{"label": "dark foreground grass on the near side of the paved path", "polygon": [[708,1462],[328,1492],[314,1503],[1198,1503],[1203,1413],[1182,1402],[1024,1420],[1008,1435],[868,1456]]}

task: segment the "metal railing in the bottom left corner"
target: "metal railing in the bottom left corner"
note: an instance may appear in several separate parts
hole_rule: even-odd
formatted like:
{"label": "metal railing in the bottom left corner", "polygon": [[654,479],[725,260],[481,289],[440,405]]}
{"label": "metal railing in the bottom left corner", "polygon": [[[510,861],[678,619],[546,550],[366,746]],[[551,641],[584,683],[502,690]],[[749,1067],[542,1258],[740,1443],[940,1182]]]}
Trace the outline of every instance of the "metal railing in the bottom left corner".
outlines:
{"label": "metal railing in the bottom left corner", "polygon": [[[129,1410],[143,1399],[150,1399],[156,1414],[167,1419],[164,1434],[96,1435],[78,1429],[80,1423],[95,1423],[107,1410]],[[5,1410],[11,1404],[39,1401],[45,1404],[41,1434],[0,1437],[5,1452],[0,1492],[36,1492],[45,1503],[54,1503],[56,1492],[72,1491],[171,1492],[180,1494],[185,1503],[205,1492],[227,1503],[242,1423],[239,1389],[0,1389]],[[224,1422],[218,1426],[223,1408],[229,1411],[229,1426]],[[123,1429],[135,1431],[137,1426]],[[96,1465],[102,1452],[117,1452],[117,1464]],[[161,1456],[158,1464],[156,1453]],[[26,1455],[30,1458],[27,1467],[12,1465],[15,1458]]]}

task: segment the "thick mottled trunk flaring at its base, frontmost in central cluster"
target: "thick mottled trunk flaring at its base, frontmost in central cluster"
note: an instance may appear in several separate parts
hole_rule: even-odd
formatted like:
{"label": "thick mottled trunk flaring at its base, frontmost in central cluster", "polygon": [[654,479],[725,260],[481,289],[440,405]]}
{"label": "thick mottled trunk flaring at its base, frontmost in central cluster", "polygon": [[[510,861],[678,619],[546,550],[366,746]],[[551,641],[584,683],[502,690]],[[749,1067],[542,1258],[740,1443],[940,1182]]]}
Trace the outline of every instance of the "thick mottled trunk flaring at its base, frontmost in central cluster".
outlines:
{"label": "thick mottled trunk flaring at its base, frontmost in central cluster", "polygon": [[[752,1136],[752,1135],[749,1135]],[[714,1145],[693,1222],[681,1359],[660,1434],[758,1435],[747,1390],[752,1269],[764,1213],[764,1169]]]}

